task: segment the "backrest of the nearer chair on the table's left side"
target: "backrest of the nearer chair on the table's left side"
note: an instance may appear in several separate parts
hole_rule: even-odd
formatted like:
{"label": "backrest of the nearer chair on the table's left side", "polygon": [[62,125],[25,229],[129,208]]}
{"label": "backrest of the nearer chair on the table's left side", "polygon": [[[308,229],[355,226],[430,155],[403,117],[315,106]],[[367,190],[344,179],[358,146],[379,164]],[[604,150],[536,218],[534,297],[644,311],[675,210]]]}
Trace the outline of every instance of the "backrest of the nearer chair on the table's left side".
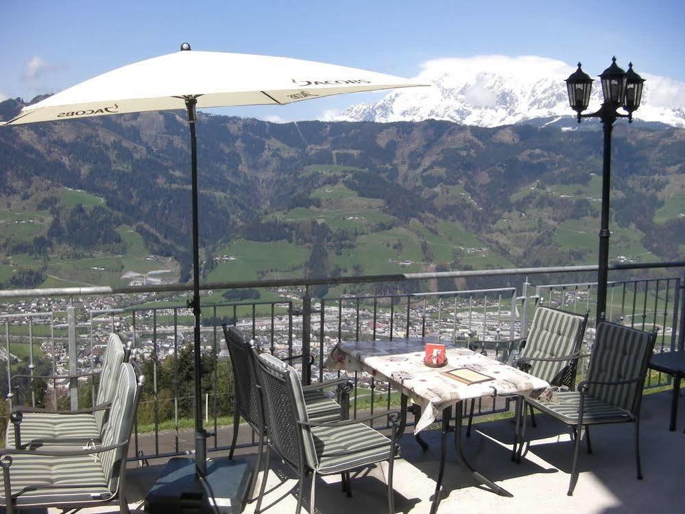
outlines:
{"label": "backrest of the nearer chair on the table's left side", "polygon": [[299,423],[309,422],[309,417],[298,372],[270,353],[259,354],[257,370],[269,442],[292,467],[315,469],[314,439],[309,428]]}

